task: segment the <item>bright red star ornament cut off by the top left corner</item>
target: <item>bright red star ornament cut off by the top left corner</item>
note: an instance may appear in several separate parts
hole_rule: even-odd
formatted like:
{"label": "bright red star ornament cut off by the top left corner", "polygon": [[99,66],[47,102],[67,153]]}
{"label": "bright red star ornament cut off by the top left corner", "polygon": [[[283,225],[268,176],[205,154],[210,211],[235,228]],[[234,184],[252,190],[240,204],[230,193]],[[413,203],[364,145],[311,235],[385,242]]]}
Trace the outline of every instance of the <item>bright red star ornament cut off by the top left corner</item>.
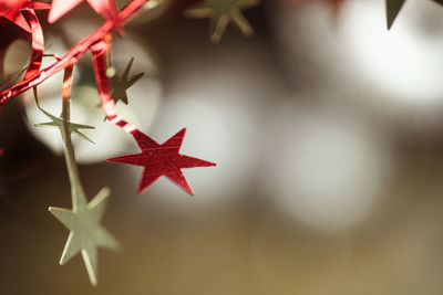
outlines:
{"label": "bright red star ornament cut off by the top left corner", "polygon": [[48,3],[29,0],[0,0],[0,17],[16,23],[23,30],[31,32],[31,28],[21,13],[27,9],[49,9]]}

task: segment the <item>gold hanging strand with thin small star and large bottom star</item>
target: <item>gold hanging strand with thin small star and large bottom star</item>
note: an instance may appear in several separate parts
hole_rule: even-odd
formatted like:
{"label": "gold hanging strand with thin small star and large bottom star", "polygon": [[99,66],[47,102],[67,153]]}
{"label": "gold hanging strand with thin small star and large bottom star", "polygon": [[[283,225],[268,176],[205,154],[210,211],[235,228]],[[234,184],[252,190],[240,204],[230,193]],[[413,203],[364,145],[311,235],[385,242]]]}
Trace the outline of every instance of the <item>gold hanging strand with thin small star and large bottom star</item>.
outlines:
{"label": "gold hanging strand with thin small star and large bottom star", "polygon": [[[60,220],[69,230],[70,235],[66,241],[60,264],[66,263],[79,252],[82,253],[84,264],[86,265],[87,274],[91,283],[96,285],[97,278],[97,246],[109,249],[117,249],[119,243],[100,225],[100,219],[104,213],[110,190],[102,189],[97,196],[87,203],[83,187],[80,181],[79,171],[75,162],[74,149],[71,143],[71,133],[75,130],[83,138],[89,139],[81,134],[79,128],[91,128],[90,126],[76,125],[69,122],[70,119],[70,96],[72,85],[72,66],[64,71],[63,78],[63,103],[62,103],[62,118],[56,118],[48,112],[43,110],[38,103],[38,93],[34,87],[35,102],[39,109],[41,109],[48,117],[52,119],[49,124],[41,126],[53,126],[60,129],[61,136],[64,141],[64,154],[66,159],[68,173],[71,182],[72,193],[72,210],[60,209],[51,207],[49,210],[55,218]],[[80,127],[79,127],[80,126]]]}

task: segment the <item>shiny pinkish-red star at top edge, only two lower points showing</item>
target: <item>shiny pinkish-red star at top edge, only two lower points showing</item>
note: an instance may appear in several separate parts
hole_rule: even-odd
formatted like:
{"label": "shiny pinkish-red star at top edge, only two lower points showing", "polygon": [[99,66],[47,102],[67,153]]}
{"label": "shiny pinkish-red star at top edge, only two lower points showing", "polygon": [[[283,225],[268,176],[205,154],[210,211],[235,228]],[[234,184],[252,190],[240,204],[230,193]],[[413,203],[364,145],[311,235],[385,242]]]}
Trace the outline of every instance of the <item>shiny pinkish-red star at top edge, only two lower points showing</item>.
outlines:
{"label": "shiny pinkish-red star at top edge, only two lower points showing", "polygon": [[[114,20],[117,14],[117,9],[115,7],[114,0],[86,0],[87,3],[97,12],[106,19]],[[74,9],[83,0],[52,0],[51,10],[49,12],[48,21],[54,23],[66,12]]]}

